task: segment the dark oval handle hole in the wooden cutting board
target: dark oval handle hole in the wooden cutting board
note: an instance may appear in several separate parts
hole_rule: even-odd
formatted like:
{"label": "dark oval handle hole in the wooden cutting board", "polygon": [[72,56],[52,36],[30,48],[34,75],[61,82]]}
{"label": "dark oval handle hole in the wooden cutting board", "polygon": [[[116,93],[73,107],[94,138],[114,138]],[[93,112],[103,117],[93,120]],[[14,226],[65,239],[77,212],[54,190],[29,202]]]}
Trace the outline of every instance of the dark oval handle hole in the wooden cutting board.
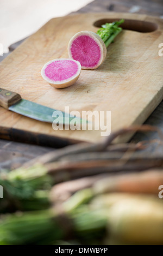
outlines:
{"label": "dark oval handle hole in the wooden cutting board", "polygon": [[[120,18],[97,20],[93,23],[93,26],[101,27],[101,25],[105,24],[106,22],[110,23],[116,20],[120,20]],[[125,19],[124,23],[122,23],[120,27],[122,27],[123,29],[137,31],[141,33],[149,33],[149,32],[156,31],[156,29],[158,29],[158,25],[156,23],[141,21],[141,20],[128,20],[128,19]]]}

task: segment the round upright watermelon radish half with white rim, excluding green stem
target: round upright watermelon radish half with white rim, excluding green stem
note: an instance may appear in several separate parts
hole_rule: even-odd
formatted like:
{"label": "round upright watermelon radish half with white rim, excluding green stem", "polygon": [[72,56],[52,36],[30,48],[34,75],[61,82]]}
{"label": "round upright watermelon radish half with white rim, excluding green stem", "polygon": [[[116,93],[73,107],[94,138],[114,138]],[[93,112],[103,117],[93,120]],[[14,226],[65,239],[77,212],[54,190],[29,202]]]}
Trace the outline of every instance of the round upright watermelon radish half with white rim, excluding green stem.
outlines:
{"label": "round upright watermelon radish half with white rim, excluding green stem", "polygon": [[104,41],[92,31],[75,34],[68,44],[68,55],[79,61],[82,69],[96,69],[106,57]]}

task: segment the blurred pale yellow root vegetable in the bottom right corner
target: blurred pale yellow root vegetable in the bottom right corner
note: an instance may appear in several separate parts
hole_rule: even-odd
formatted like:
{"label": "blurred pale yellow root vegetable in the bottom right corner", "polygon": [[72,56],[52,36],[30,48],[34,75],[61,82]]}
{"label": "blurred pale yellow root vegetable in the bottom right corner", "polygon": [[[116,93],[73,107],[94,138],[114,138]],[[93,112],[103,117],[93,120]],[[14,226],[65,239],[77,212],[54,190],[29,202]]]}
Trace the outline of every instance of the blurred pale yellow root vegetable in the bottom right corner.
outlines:
{"label": "blurred pale yellow root vegetable in the bottom right corner", "polygon": [[137,245],[163,245],[163,204],[125,199],[111,207],[108,231],[115,239]]}

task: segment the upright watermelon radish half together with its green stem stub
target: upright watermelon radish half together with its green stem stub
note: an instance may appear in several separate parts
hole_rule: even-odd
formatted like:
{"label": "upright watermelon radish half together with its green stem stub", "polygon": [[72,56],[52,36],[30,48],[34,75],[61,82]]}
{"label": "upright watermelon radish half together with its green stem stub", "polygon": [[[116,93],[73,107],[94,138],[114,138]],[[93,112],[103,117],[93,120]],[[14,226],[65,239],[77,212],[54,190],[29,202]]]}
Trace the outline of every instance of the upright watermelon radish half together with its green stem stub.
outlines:
{"label": "upright watermelon radish half together with its green stem stub", "polygon": [[105,23],[97,33],[80,31],[75,34],[68,44],[68,55],[79,61],[82,69],[98,68],[106,57],[106,48],[122,31],[119,27],[124,20]]}

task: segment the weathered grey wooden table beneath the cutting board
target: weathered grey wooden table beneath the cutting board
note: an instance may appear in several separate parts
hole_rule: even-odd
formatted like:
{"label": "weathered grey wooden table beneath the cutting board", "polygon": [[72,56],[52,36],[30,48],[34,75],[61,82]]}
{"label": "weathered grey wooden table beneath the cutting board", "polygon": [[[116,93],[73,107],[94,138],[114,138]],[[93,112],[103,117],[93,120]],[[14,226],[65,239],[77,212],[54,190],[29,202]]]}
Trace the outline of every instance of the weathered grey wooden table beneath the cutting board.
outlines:
{"label": "weathered grey wooden table beneath the cutting board", "polygon": [[[86,5],[84,8],[78,10],[77,13],[102,11],[148,14],[163,18],[162,0],[95,0]],[[16,49],[16,47],[20,45],[22,41],[23,40],[11,45],[9,47],[10,52]],[[0,57],[0,61],[2,61],[2,59],[8,54],[9,53],[4,54],[3,57]],[[163,102],[160,103],[158,108],[155,109],[145,123],[159,127],[163,132]],[[156,139],[157,137],[158,135],[154,132],[150,134],[136,133],[132,140],[140,141],[146,139]],[[27,162],[36,156],[54,150],[56,145],[53,146],[53,148],[50,148],[46,146],[24,144],[22,142],[0,140],[0,170],[17,168],[24,162]]]}

